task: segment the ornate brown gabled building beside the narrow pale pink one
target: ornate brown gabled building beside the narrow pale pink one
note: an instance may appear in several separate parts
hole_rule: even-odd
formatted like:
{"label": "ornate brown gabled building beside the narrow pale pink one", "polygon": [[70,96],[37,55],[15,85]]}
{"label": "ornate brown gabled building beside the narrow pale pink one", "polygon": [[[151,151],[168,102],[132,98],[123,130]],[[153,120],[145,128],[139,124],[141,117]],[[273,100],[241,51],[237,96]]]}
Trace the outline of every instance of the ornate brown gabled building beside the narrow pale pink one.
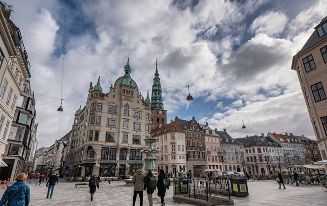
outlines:
{"label": "ornate brown gabled building beside the narrow pale pink one", "polygon": [[205,174],[207,167],[204,131],[194,116],[190,121],[175,117],[175,122],[185,132],[186,171],[192,172],[194,177],[200,177]]}

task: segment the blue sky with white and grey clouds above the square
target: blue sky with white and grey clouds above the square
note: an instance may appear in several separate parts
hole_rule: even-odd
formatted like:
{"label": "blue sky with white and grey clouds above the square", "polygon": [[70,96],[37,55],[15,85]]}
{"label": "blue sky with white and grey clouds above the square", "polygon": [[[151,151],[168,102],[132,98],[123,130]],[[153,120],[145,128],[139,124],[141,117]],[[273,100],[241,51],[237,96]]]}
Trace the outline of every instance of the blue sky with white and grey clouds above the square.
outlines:
{"label": "blue sky with white and grey clouds above the square", "polygon": [[38,147],[69,132],[89,83],[100,75],[109,92],[127,58],[144,96],[158,58],[168,121],[194,115],[234,138],[315,138],[291,58],[327,15],[327,0],[68,0],[64,112],[65,0],[7,3],[31,63]]}

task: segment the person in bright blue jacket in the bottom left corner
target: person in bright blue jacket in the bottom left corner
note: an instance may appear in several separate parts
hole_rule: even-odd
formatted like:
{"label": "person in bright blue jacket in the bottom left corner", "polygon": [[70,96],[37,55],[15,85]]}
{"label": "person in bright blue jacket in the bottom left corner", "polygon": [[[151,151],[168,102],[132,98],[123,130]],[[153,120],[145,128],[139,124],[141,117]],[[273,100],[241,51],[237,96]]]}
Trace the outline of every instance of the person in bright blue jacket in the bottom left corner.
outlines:
{"label": "person in bright blue jacket in the bottom left corner", "polygon": [[16,182],[8,187],[0,200],[1,206],[28,206],[30,204],[30,187],[24,182],[27,179],[25,173],[16,176]]}

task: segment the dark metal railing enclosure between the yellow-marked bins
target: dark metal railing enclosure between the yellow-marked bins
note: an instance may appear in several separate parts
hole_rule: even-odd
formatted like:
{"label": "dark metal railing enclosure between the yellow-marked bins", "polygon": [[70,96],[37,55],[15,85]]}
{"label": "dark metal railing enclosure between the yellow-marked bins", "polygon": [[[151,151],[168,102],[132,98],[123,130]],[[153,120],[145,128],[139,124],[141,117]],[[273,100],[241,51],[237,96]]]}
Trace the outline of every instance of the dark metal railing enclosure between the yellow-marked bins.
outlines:
{"label": "dark metal railing enclosure between the yellow-marked bins", "polygon": [[193,178],[174,177],[174,195],[211,201],[214,197],[230,199],[229,178]]}

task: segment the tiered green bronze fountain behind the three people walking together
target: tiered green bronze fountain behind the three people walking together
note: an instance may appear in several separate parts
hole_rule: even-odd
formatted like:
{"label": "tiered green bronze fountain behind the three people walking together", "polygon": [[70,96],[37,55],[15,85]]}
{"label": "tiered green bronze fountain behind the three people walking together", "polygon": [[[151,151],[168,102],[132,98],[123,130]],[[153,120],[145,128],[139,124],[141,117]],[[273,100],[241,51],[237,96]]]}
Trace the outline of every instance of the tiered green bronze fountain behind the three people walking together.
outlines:
{"label": "tiered green bronze fountain behind the three people walking together", "polygon": [[[148,170],[151,170],[153,175],[156,177],[157,179],[157,158],[154,156],[154,154],[156,153],[159,153],[158,150],[156,149],[153,149],[153,146],[152,144],[157,142],[158,139],[155,139],[155,138],[146,138],[144,139],[146,143],[149,144],[149,147],[148,149],[144,149],[144,150],[141,150],[142,153],[145,153],[146,157],[145,157],[145,166],[144,166],[144,169],[145,169],[145,174]],[[125,179],[124,180],[126,184],[129,184],[129,185],[133,185],[132,183],[132,178],[131,179]]]}

